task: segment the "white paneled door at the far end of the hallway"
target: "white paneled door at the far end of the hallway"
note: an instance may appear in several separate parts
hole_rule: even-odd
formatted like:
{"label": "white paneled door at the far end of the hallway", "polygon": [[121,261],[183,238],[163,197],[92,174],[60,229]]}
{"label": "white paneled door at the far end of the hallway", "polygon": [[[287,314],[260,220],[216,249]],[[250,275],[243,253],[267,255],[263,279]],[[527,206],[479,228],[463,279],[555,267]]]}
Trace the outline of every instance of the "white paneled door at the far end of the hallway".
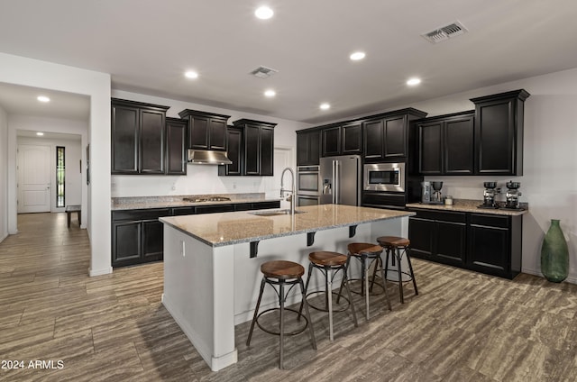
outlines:
{"label": "white paneled door at the far end of the hallway", "polygon": [[50,212],[50,146],[18,145],[18,214]]}

